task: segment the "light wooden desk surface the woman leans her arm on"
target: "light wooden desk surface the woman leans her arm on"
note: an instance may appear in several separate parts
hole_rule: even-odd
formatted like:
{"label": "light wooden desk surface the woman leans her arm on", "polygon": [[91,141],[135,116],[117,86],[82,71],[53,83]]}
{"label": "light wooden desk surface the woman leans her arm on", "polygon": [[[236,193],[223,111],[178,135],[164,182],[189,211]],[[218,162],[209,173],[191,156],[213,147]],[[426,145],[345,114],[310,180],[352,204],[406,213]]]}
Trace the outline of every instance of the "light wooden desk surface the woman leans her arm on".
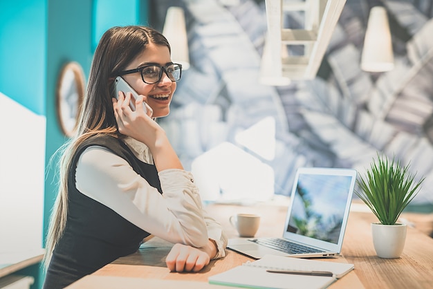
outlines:
{"label": "light wooden desk surface the woman leans her arm on", "polygon": [[[355,206],[353,206],[354,208]],[[229,237],[237,236],[228,218],[238,212],[261,215],[261,226],[256,236],[281,236],[286,215],[286,204],[258,204],[248,207],[238,205],[209,205],[207,211],[226,229]],[[433,239],[408,227],[405,250],[400,259],[380,259],[376,257],[371,240],[371,221],[376,218],[371,212],[352,210],[349,216],[342,256],[326,261],[355,264],[355,270],[333,283],[329,288],[431,288],[433,284]],[[165,256],[172,244],[154,238],[139,252],[122,257],[104,266],[92,276],[140,277],[145,279],[165,279],[173,281],[203,281],[208,277],[224,272],[234,266],[251,260],[228,250],[224,259],[211,261],[207,268],[198,273],[169,272],[165,266]],[[75,284],[79,285],[80,281]],[[208,284],[203,284],[208,286]],[[80,288],[74,286],[73,288]],[[179,287],[178,287],[179,288]]]}

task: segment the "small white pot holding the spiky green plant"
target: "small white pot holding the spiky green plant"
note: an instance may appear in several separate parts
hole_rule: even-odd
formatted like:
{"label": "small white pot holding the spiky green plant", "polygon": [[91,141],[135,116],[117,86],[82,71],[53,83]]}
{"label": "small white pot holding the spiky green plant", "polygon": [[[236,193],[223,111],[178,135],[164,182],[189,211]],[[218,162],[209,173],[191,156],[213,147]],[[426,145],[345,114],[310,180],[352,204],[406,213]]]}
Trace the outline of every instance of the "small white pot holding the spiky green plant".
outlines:
{"label": "small white pot holding the spiky green plant", "polygon": [[406,241],[406,224],[383,225],[371,223],[371,234],[376,254],[380,258],[399,258]]}

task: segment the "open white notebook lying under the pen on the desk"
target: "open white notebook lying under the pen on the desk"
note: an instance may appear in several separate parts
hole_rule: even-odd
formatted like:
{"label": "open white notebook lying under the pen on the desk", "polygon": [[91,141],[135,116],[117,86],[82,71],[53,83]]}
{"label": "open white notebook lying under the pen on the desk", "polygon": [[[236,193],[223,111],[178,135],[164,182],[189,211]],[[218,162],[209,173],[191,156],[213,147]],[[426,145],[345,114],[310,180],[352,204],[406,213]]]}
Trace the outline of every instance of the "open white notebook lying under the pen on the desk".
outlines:
{"label": "open white notebook lying under the pen on the desk", "polygon": [[[350,263],[265,255],[259,260],[248,261],[211,276],[208,281],[211,284],[241,288],[320,289],[328,287],[353,269],[354,265]],[[315,276],[314,272],[331,272],[332,276]]]}

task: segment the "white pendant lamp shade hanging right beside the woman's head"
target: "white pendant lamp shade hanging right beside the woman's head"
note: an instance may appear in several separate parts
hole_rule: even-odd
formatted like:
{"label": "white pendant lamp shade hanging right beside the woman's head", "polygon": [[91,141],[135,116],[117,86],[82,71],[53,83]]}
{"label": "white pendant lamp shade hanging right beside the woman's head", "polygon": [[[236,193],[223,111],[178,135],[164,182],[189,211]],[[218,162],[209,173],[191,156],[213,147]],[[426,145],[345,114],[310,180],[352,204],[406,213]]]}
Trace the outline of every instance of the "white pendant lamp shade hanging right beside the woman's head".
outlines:
{"label": "white pendant lamp shade hanging right beside the woman's head", "polygon": [[181,7],[169,7],[165,16],[163,35],[172,48],[172,61],[182,64],[183,70],[190,68],[185,14]]}

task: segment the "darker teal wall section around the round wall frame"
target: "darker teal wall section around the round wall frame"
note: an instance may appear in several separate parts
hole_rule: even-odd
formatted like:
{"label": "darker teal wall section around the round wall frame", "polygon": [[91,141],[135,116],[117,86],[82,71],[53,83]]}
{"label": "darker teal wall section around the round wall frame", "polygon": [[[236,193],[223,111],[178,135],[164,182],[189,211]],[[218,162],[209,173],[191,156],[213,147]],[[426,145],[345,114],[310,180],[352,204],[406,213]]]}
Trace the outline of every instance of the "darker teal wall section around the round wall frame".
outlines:
{"label": "darker teal wall section around the round wall frame", "polygon": [[[88,0],[48,1],[48,33],[46,62],[46,164],[66,137],[57,122],[55,91],[57,75],[67,62],[81,64],[85,77],[91,64],[92,3]],[[48,227],[50,208],[56,194],[55,166],[48,167],[45,183],[44,232]]]}

